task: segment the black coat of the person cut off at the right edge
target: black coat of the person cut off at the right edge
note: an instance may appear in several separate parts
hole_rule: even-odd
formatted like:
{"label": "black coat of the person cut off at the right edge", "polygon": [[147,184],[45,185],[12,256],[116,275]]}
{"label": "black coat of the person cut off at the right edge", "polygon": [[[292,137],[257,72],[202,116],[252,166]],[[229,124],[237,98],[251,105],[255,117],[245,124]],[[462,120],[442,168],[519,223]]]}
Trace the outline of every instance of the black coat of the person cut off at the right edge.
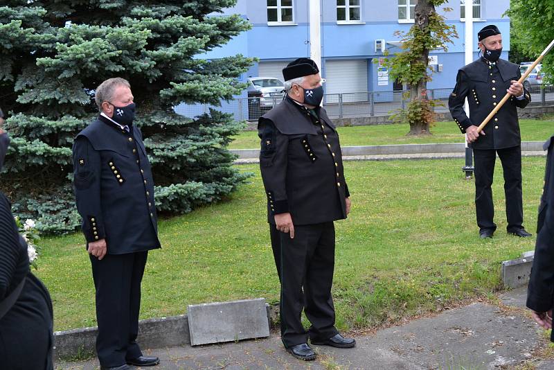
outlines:
{"label": "black coat of the person cut off at the right edge", "polygon": [[544,149],[548,149],[546,173],[527,292],[527,307],[537,312],[546,312],[554,306],[554,136],[544,143]]}

